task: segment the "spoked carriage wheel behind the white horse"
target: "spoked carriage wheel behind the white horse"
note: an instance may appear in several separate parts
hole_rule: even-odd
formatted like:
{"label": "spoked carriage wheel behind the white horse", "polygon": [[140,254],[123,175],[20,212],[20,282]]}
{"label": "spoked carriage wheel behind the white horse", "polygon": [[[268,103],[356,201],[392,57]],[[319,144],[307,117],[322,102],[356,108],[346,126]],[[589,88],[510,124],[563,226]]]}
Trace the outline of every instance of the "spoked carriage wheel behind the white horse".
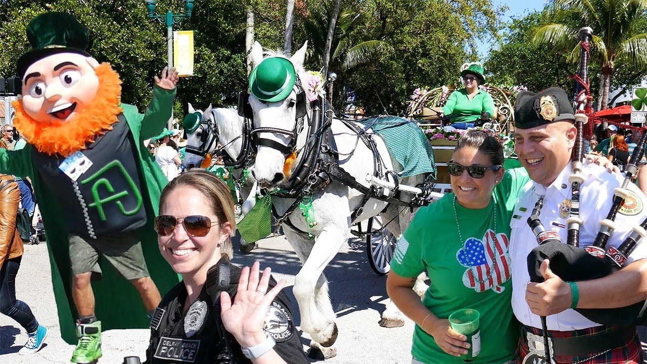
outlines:
{"label": "spoked carriage wheel behind the white horse", "polygon": [[[373,225],[375,229],[373,229]],[[379,216],[369,218],[366,231],[377,231],[382,227],[382,219]],[[386,275],[391,270],[391,259],[395,251],[397,239],[388,229],[380,233],[366,235],[366,254],[368,262],[377,275]]]}

